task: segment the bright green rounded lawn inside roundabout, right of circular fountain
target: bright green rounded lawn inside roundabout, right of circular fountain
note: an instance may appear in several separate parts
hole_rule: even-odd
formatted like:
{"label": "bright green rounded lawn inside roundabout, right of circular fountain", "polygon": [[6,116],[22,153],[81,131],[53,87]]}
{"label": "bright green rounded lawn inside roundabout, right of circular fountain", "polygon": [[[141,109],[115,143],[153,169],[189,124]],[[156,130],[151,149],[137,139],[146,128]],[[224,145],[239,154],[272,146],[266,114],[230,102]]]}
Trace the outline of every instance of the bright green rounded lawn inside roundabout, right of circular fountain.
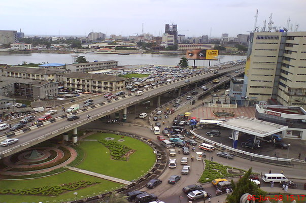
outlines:
{"label": "bright green rounded lawn inside roundabout, right of circular fountain", "polygon": [[[86,140],[102,140],[107,137],[125,140],[120,144],[134,150],[127,161],[111,159],[109,150],[97,141],[82,141],[80,147],[85,151],[85,160],[76,167],[107,176],[131,181],[144,175],[153,166],[156,155],[147,144],[133,138],[118,136],[117,134],[95,133]],[[94,163],[94,164],[93,164]]]}

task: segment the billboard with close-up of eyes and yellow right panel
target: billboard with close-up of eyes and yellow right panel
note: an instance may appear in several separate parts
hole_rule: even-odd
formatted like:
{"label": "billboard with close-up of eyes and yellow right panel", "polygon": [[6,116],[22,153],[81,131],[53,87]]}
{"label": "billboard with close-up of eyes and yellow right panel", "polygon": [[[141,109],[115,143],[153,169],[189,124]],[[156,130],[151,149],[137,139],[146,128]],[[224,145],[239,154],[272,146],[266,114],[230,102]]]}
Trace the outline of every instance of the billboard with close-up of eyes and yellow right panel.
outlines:
{"label": "billboard with close-up of eyes and yellow right panel", "polygon": [[186,51],[186,58],[195,60],[218,60],[218,54],[218,50],[192,49]]}

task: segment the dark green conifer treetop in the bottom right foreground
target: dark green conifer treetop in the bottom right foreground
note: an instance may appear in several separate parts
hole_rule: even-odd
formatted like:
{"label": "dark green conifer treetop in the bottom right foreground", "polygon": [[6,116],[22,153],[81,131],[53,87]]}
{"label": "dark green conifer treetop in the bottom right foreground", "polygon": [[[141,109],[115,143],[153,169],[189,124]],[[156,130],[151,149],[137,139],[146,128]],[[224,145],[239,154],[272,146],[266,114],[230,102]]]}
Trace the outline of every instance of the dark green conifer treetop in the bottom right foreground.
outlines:
{"label": "dark green conifer treetop in the bottom right foreground", "polygon": [[266,196],[266,192],[261,190],[255,183],[251,182],[249,177],[252,173],[252,168],[238,181],[234,186],[234,191],[232,194],[227,195],[226,200],[229,203],[240,202],[240,197],[245,193],[250,193],[255,197]]}

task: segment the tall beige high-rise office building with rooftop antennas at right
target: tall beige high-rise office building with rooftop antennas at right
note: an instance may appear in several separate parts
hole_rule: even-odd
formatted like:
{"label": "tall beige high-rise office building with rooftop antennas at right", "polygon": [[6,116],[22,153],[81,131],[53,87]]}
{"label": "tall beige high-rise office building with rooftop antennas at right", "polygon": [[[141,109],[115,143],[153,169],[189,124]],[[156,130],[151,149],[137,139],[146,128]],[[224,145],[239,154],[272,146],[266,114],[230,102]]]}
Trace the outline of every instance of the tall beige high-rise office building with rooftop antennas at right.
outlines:
{"label": "tall beige high-rise office building with rooftop antennas at right", "polygon": [[306,107],[306,32],[250,33],[242,100]]}

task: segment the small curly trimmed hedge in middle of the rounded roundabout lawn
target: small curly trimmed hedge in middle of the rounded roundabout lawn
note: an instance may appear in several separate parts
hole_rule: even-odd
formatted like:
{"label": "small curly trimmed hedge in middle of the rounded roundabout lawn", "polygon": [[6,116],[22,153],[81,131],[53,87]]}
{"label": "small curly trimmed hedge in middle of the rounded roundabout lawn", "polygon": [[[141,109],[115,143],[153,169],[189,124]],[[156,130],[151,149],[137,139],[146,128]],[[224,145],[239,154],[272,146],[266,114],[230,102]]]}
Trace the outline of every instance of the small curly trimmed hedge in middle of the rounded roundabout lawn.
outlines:
{"label": "small curly trimmed hedge in middle of the rounded roundabout lawn", "polygon": [[112,155],[113,159],[124,161],[127,160],[127,158],[123,156],[129,152],[131,148],[111,140],[99,140],[98,142],[110,150],[110,154]]}

